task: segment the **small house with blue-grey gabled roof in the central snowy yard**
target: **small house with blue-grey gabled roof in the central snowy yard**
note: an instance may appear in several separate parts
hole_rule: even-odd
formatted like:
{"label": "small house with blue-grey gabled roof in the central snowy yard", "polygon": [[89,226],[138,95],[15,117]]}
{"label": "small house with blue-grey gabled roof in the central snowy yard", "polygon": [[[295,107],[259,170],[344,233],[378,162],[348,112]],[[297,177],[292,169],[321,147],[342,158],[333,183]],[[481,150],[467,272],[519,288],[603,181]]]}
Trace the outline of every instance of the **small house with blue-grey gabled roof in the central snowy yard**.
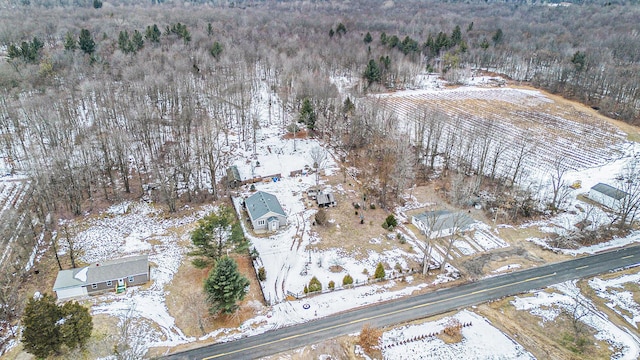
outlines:
{"label": "small house with blue-grey gabled roof in the central snowy yard", "polygon": [[277,231],[287,225],[287,214],[275,195],[258,191],[244,200],[254,230]]}

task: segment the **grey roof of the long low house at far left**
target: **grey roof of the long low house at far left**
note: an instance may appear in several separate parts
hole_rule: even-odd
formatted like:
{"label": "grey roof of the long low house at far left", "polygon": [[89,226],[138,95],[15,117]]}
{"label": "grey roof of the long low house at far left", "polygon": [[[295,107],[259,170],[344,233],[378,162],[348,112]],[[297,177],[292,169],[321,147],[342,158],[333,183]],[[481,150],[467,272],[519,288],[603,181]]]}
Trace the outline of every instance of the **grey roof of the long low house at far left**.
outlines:
{"label": "grey roof of the long low house at far left", "polygon": [[149,271],[149,256],[131,256],[116,260],[94,263],[83,268],[58,272],[53,290],[97,284],[128,276],[146,274]]}

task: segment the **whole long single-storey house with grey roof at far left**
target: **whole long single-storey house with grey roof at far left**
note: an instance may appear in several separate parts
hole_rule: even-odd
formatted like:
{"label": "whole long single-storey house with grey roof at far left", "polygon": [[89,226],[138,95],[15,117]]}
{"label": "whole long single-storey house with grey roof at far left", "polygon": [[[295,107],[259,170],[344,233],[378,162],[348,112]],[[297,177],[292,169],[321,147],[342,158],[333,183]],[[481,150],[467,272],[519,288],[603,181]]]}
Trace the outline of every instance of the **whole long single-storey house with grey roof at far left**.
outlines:
{"label": "whole long single-storey house with grey roof at far left", "polygon": [[144,284],[149,278],[149,256],[131,256],[61,270],[53,291],[60,300],[110,290],[118,293],[126,290],[127,286]]}

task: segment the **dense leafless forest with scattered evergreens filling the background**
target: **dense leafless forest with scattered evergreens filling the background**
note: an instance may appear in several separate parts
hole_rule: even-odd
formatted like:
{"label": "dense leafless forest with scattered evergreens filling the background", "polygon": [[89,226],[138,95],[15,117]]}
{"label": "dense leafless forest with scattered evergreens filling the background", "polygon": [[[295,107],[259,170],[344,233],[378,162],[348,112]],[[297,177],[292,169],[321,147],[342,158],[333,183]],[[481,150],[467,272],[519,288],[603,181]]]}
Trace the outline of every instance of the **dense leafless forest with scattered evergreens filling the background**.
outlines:
{"label": "dense leafless forest with scattered evergreens filling the background", "polygon": [[[365,149],[382,197],[387,184],[396,194],[409,186],[406,161],[420,154],[401,136],[379,146],[394,138],[393,117],[360,100],[415,87],[425,71],[452,83],[495,72],[640,123],[640,7],[620,2],[0,6],[0,151],[30,180],[23,260],[57,218],[149,189],[169,211],[221,196],[229,135],[245,149],[259,141],[261,96],[271,126],[297,130],[304,117],[341,153]],[[340,92],[336,79],[356,85]]]}

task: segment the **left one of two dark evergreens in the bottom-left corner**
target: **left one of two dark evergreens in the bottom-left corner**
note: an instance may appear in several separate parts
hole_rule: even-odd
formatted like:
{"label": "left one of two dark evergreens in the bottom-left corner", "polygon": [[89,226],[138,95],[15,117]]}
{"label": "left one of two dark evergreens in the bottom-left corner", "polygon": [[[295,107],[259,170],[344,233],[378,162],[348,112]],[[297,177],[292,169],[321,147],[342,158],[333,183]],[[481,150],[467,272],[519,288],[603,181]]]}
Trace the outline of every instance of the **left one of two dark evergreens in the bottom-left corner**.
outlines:
{"label": "left one of two dark evergreens in the bottom-left corner", "polygon": [[53,296],[45,294],[38,299],[29,299],[22,317],[24,349],[42,359],[59,352],[63,343],[59,324],[62,317],[62,310]]}

